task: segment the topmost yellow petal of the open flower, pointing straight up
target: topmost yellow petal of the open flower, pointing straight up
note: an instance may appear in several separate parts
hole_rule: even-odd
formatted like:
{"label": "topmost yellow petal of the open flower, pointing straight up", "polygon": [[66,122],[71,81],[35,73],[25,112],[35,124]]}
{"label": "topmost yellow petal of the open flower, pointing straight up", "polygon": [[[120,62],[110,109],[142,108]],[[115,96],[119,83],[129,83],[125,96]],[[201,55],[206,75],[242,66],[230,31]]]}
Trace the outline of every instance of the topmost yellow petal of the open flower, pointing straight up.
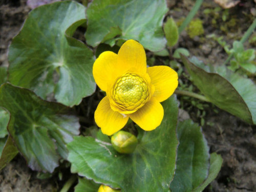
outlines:
{"label": "topmost yellow petal of the open flower, pointing straight up", "polygon": [[123,72],[146,73],[146,53],[141,44],[135,40],[124,42],[118,52],[118,63]]}

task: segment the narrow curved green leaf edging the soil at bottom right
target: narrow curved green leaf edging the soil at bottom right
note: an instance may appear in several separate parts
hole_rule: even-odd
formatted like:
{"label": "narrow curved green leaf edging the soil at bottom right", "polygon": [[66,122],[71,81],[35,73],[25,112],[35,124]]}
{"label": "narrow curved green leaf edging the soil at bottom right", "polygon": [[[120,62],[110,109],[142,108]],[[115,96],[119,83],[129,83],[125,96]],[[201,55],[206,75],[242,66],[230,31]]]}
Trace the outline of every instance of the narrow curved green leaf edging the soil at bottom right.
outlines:
{"label": "narrow curved green leaf edging the soil at bottom right", "polygon": [[210,154],[210,169],[209,169],[209,175],[207,179],[196,189],[193,190],[193,192],[202,192],[203,189],[210,184],[211,181],[215,180],[217,177],[222,164],[222,158],[220,155],[217,155],[217,153]]}

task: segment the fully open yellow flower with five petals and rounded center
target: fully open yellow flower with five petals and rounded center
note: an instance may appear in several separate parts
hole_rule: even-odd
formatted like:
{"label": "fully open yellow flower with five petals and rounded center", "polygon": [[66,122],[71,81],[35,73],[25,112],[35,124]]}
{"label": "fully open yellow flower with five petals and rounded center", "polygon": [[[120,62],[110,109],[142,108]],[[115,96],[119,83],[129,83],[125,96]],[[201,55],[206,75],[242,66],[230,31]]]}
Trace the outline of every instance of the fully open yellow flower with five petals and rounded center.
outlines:
{"label": "fully open yellow flower with five petals and rounded center", "polygon": [[178,75],[173,69],[146,67],[144,48],[135,40],[127,40],[118,54],[101,53],[94,62],[93,76],[106,92],[94,115],[106,135],[122,129],[129,118],[145,131],[156,129],[163,119],[160,102],[178,86]]}

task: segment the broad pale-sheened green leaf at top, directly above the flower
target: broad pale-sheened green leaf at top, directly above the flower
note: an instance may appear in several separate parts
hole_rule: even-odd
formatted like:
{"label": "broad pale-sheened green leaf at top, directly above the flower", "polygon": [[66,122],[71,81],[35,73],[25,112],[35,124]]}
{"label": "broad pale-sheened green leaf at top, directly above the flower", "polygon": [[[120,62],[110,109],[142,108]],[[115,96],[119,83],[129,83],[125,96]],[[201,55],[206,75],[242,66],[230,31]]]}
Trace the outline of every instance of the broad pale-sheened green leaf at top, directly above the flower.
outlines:
{"label": "broad pale-sheened green leaf at top, directly above the flower", "polygon": [[94,0],[87,9],[87,44],[96,47],[110,37],[134,39],[160,51],[166,44],[162,25],[167,11],[164,0]]}

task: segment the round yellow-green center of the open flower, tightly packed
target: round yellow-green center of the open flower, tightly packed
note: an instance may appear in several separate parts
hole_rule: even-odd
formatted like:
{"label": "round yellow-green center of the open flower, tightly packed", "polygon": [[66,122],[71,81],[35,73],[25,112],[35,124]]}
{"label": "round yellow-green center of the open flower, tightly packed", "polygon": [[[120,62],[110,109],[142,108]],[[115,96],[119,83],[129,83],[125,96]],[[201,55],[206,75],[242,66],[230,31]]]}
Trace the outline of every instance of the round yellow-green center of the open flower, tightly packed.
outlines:
{"label": "round yellow-green center of the open flower, tightly packed", "polygon": [[127,73],[115,84],[113,99],[121,108],[133,111],[141,108],[149,99],[146,81],[138,75]]}

